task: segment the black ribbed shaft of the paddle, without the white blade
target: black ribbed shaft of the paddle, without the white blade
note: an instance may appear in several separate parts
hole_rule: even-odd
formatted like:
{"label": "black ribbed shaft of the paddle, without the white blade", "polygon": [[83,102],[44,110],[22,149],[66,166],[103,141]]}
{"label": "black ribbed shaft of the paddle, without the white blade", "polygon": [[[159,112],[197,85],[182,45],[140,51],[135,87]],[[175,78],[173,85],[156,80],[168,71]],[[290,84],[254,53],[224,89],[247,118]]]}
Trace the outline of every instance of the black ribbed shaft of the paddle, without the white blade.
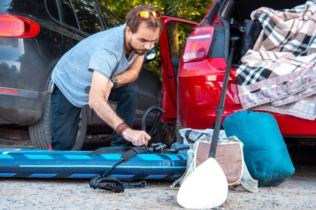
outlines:
{"label": "black ribbed shaft of the paddle, without the white blade", "polygon": [[215,159],[217,141],[219,137],[219,131],[221,128],[222,117],[224,113],[224,104],[225,104],[225,99],[226,99],[230,69],[233,62],[235,44],[240,40],[240,38],[232,37],[230,40],[232,42],[232,45],[231,45],[230,52],[228,55],[228,62],[227,62],[225,77],[224,77],[223,86],[222,86],[221,98],[219,100],[219,105],[216,109],[216,121],[215,121],[215,126],[214,126],[214,131],[213,131],[213,136],[212,136],[212,143],[211,143],[210,154],[209,154],[209,158],[214,158],[214,159]]}

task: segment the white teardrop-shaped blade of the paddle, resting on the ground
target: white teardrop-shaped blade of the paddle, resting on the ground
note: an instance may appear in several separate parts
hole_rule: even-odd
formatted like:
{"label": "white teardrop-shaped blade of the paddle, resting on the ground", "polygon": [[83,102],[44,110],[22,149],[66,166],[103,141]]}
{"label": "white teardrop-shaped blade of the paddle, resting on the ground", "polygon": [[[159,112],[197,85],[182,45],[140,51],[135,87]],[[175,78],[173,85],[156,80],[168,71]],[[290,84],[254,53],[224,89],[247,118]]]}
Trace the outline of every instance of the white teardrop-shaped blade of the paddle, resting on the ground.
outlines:
{"label": "white teardrop-shaped blade of the paddle, resting on the ground", "polygon": [[227,198],[228,183],[221,166],[208,158],[181,184],[177,201],[185,208],[214,208]]}

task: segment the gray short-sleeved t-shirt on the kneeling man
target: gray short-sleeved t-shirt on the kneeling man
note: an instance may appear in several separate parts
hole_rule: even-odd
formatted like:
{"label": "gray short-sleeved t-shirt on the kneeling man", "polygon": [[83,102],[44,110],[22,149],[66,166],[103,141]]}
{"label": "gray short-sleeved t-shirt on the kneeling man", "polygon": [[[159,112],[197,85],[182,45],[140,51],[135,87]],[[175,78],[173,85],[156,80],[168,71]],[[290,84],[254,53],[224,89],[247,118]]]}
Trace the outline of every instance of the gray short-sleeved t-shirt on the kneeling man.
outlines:
{"label": "gray short-sleeved t-shirt on the kneeling man", "polygon": [[54,67],[52,80],[74,106],[88,104],[93,70],[110,78],[124,72],[137,57],[125,57],[125,28],[126,24],[83,39]]}

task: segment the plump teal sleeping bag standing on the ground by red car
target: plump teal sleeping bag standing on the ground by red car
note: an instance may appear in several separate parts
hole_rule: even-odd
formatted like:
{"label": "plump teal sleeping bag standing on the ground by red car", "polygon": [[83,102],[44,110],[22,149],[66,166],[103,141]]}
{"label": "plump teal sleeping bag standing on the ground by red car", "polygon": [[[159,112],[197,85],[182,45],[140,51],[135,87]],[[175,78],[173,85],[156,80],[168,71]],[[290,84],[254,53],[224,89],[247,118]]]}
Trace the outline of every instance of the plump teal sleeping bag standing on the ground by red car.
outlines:
{"label": "plump teal sleeping bag standing on the ground by red car", "polygon": [[295,169],[275,118],[268,113],[242,111],[223,122],[227,136],[244,143],[244,160],[258,187],[282,184]]}

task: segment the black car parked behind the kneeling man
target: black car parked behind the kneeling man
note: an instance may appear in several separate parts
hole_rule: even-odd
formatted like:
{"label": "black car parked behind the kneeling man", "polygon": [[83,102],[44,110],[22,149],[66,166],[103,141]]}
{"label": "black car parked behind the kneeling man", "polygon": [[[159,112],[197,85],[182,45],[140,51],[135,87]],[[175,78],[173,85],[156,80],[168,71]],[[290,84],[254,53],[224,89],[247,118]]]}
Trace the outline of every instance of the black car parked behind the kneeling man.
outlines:
{"label": "black car parked behind the kneeling man", "polygon": [[[122,24],[92,0],[1,0],[0,137],[30,138],[34,148],[47,149],[52,138],[48,83],[53,67],[80,40]],[[150,59],[145,58],[136,81],[139,100],[133,128],[139,130],[144,110],[160,106],[162,95],[161,73],[149,63],[157,51],[145,57]],[[115,110],[115,103],[110,104]],[[149,127],[155,117],[148,116]],[[73,150],[82,148],[86,134],[113,132],[88,106],[82,108],[78,126]]]}

